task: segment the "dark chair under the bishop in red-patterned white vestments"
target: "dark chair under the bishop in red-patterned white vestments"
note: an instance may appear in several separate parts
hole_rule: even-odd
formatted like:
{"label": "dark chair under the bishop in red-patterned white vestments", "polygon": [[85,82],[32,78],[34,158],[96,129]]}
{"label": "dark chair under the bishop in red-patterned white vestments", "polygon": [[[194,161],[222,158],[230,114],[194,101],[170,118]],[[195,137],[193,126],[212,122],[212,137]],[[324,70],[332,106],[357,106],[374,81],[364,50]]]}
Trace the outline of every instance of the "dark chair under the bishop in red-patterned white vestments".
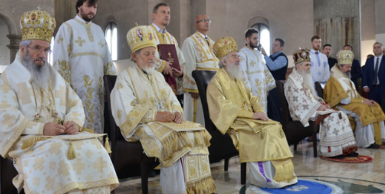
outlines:
{"label": "dark chair under the bishop in red-patterned white vestments", "polygon": [[290,116],[288,109],[288,104],[285,97],[285,92],[283,91],[283,83],[276,81],[279,101],[281,103],[282,109],[282,129],[286,135],[287,143],[289,145],[294,144],[294,150],[297,150],[297,144],[304,139],[305,137],[313,137],[313,151],[314,157],[317,157],[317,133],[319,131],[319,126],[315,122],[309,121],[308,127],[303,127],[302,123],[296,120],[293,120]]}

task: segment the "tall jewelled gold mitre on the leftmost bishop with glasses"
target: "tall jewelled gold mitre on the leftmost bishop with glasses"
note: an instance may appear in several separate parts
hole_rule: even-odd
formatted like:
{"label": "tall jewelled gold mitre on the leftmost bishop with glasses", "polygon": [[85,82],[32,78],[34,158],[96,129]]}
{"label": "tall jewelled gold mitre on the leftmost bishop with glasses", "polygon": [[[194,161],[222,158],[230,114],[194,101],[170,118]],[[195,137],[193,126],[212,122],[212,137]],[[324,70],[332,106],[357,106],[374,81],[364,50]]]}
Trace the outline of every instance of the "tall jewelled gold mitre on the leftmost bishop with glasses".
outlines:
{"label": "tall jewelled gold mitre on the leftmost bishop with glasses", "polygon": [[55,18],[45,11],[33,10],[20,18],[21,40],[43,40],[51,42],[56,28]]}

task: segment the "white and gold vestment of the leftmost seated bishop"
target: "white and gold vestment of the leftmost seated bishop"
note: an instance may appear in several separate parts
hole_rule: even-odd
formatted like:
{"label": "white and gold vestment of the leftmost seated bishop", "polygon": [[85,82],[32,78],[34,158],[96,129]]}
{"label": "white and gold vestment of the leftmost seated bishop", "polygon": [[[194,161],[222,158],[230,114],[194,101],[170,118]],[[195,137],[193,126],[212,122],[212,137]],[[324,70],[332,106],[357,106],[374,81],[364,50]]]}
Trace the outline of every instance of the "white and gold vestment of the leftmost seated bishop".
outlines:
{"label": "white and gold vestment of the leftmost seated bishop", "polygon": [[[44,125],[54,122],[55,111],[64,122],[83,126],[81,100],[49,64],[49,88],[41,91],[18,56],[0,79],[0,148],[3,157],[15,162],[19,174],[13,179],[14,185],[27,194],[94,189],[109,193],[119,183],[108,153],[97,138],[102,134],[43,135]],[[36,112],[41,115],[38,122],[34,120]],[[70,143],[75,149],[74,159],[67,156]]]}

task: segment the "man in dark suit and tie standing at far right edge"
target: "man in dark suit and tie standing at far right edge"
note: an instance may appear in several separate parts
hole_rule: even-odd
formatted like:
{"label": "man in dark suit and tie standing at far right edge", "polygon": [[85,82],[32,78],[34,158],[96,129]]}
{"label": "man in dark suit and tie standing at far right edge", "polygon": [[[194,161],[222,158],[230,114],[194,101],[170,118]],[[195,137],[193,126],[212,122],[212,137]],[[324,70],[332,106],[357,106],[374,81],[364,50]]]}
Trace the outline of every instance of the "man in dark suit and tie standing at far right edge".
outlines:
{"label": "man in dark suit and tie standing at far right edge", "polygon": [[385,93],[385,76],[383,76],[385,75],[385,59],[382,60],[384,56],[382,50],[382,43],[374,43],[374,57],[367,59],[365,63],[363,88],[364,92],[369,92],[369,99],[376,101],[384,110],[385,107],[381,103]]}

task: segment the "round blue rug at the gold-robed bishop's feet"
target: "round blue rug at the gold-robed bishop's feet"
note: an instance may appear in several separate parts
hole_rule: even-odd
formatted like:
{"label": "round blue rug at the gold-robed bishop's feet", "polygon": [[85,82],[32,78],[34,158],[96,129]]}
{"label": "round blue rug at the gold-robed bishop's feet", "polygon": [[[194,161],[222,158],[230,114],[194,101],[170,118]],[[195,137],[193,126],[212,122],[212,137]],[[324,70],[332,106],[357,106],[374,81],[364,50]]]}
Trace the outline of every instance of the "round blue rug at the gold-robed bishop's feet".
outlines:
{"label": "round blue rug at the gold-robed bishop's feet", "polygon": [[342,194],[344,191],[333,184],[316,180],[298,180],[298,183],[284,188],[259,188],[254,185],[249,187],[251,192],[258,194]]}

